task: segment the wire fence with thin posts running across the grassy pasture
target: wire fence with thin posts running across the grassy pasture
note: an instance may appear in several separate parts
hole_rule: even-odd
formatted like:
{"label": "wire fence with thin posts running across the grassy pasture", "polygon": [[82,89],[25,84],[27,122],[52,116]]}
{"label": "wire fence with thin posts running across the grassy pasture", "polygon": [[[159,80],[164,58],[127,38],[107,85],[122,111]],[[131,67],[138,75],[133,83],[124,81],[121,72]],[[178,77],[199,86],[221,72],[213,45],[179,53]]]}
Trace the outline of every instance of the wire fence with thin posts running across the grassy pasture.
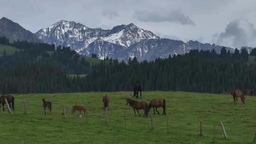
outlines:
{"label": "wire fence with thin posts running across the grassy pasture", "polygon": [[[53,115],[46,116],[50,118],[61,118],[64,113],[63,108],[64,103],[55,102],[56,107],[53,107]],[[33,114],[38,113],[38,109],[42,109],[42,115],[44,115],[43,106],[38,105],[35,102],[26,101],[27,105],[27,113]],[[71,114],[72,104],[65,104],[65,112],[66,118],[73,118],[73,120],[77,120],[79,117],[79,113],[76,112],[75,115]],[[18,108],[18,109],[17,109]],[[205,137],[213,137],[213,138],[224,138],[224,131],[222,130],[220,121],[209,121],[204,120],[184,120],[179,119],[172,116],[162,116],[158,114],[148,114],[148,117],[143,118],[144,112],[140,111],[140,117],[136,112],[136,117],[134,117],[133,110],[131,108],[126,108],[122,112],[113,113],[111,109],[108,111],[108,116],[106,116],[106,111],[103,108],[100,113],[91,112],[91,108],[88,108],[88,113],[86,115],[82,115],[83,122],[94,123],[98,125],[115,125],[121,126],[123,128],[129,127],[130,129],[137,129],[140,131],[152,129],[154,131],[159,131],[162,133],[175,133],[181,135],[190,135],[190,136],[198,136],[202,132],[202,136]],[[23,103],[16,104],[16,113],[25,113]],[[31,110],[31,111],[30,111]],[[151,118],[152,117],[152,118]],[[200,126],[200,121],[202,122],[202,126]],[[241,134],[236,131],[237,129],[244,129],[245,127],[237,124],[234,127],[234,124],[231,125],[229,123],[225,123],[224,128],[226,129],[226,133],[229,137],[240,137]],[[247,134],[247,138],[251,138],[253,140],[255,135],[256,127],[252,127]],[[255,137],[256,139],[256,137]]]}

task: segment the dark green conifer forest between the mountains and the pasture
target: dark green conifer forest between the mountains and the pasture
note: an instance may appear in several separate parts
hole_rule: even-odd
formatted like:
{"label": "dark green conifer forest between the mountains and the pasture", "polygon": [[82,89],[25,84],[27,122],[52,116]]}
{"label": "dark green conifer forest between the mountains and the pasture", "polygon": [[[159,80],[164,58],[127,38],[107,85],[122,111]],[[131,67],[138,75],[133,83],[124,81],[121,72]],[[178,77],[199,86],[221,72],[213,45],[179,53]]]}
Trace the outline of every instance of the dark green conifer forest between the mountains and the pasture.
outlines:
{"label": "dark green conifer forest between the mountains and the pasture", "polygon": [[132,90],[137,80],[144,90],[219,93],[256,86],[256,65],[247,63],[246,50],[235,50],[234,54],[225,48],[220,54],[192,50],[151,62],[106,58],[90,63],[69,47],[55,50],[55,45],[9,43],[1,37],[0,43],[20,49],[0,57],[0,92],[5,94]]}

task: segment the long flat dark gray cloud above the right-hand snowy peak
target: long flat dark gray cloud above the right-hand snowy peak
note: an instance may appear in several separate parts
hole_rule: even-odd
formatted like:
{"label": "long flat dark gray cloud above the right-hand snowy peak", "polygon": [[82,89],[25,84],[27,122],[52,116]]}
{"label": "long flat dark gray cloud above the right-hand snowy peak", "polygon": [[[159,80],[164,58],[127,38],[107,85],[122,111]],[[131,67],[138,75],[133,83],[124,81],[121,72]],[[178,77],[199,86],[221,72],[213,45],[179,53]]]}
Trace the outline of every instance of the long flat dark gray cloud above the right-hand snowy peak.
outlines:
{"label": "long flat dark gray cloud above the right-hand snowy peak", "polygon": [[179,10],[169,12],[164,10],[136,10],[133,14],[133,18],[142,22],[175,22],[182,25],[195,25],[194,21],[190,17],[184,15]]}

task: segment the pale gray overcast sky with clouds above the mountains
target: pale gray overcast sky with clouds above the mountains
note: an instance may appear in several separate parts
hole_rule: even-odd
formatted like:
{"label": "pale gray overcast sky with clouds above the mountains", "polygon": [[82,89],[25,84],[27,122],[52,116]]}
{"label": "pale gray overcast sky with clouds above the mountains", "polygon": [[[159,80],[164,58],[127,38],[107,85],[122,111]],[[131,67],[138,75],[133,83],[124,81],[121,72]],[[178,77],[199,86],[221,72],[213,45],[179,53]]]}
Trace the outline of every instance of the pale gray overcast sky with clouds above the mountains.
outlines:
{"label": "pale gray overcast sky with clouds above the mountains", "polygon": [[0,0],[0,17],[37,32],[59,20],[109,29],[134,23],[160,37],[256,46],[256,0]]}

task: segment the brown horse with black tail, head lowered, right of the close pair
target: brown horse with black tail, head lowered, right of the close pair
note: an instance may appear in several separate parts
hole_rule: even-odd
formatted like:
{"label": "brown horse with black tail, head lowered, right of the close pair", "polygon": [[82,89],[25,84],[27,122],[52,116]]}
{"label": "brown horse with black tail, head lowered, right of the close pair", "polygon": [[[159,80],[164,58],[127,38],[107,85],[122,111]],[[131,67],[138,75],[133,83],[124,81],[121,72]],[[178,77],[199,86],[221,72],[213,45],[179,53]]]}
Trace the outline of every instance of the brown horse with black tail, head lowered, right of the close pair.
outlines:
{"label": "brown horse with black tail, head lowered, right of the close pair", "polygon": [[156,112],[159,114],[159,112],[157,111],[157,108],[163,108],[163,115],[166,115],[165,113],[165,99],[152,99],[147,107],[147,113],[149,112],[150,108],[154,109],[154,114],[155,114],[155,110]]}

